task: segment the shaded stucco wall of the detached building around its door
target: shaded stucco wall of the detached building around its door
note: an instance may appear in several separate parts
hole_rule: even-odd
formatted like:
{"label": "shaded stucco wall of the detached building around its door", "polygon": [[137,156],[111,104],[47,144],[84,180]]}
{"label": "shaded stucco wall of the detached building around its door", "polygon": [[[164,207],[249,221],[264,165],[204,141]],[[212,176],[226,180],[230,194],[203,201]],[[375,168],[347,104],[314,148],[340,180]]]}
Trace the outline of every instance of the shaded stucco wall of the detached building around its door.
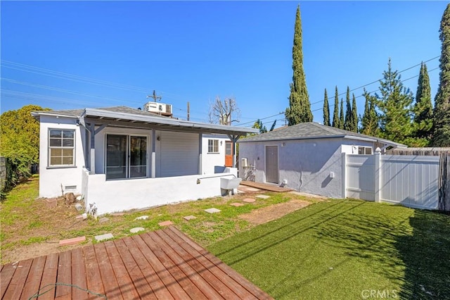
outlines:
{"label": "shaded stucco wall of the detached building around its door", "polygon": [[[278,146],[279,185],[287,180],[286,186],[299,192],[342,198],[342,153],[352,153],[354,146],[373,146],[373,142],[343,138],[241,142],[239,157],[256,168],[256,182],[266,182],[265,146]],[[244,174],[241,163],[239,174]]]}

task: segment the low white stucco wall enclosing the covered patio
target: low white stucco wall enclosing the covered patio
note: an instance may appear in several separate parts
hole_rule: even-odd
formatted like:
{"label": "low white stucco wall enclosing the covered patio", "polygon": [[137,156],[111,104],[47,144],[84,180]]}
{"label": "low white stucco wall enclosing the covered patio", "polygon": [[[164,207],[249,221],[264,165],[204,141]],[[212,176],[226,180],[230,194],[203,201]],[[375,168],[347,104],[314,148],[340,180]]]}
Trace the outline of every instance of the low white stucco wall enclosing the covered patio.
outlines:
{"label": "low white stucco wall enclosing the covered patio", "polygon": [[106,180],[104,174],[89,175],[88,172],[84,172],[84,180],[88,182],[87,192],[84,195],[86,208],[89,208],[89,204],[95,204],[98,215],[102,215],[220,196],[220,179],[234,178],[237,175],[236,168],[231,168],[230,171],[206,176],[188,175],[133,180]]}

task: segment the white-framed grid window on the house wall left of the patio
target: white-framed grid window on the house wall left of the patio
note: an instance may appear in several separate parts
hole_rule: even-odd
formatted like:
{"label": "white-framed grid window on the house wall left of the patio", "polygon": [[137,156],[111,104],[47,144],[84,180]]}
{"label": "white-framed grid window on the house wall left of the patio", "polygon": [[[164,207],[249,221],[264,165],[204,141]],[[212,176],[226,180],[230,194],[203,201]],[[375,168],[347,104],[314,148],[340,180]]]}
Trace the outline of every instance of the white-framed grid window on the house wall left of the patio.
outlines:
{"label": "white-framed grid window on the house wall left of the patio", "polygon": [[75,130],[49,130],[49,167],[75,165]]}

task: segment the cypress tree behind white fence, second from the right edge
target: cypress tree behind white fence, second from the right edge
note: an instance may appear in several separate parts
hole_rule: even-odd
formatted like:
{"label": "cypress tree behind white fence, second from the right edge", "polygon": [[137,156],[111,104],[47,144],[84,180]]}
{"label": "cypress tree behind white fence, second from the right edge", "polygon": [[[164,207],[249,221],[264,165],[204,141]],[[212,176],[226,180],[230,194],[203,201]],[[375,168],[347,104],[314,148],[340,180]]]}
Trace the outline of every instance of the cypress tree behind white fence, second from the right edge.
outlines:
{"label": "cypress tree behind white fence, second from the right edge", "polygon": [[428,77],[427,65],[420,65],[420,73],[416,92],[416,104],[414,104],[415,136],[418,139],[426,139],[425,144],[432,135],[432,112],[430,77]]}

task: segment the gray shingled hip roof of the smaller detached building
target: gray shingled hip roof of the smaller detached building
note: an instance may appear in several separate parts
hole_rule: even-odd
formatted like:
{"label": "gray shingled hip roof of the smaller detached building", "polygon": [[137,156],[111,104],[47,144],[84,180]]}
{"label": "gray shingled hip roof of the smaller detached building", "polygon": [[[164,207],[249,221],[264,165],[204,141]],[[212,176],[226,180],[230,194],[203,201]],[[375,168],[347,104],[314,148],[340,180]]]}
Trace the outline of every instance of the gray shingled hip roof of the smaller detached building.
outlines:
{"label": "gray shingled hip roof of the smaller detached building", "polygon": [[380,139],[379,137],[371,137],[370,135],[361,135],[357,132],[342,130],[314,122],[300,123],[293,126],[283,127],[261,135],[246,137],[245,139],[240,139],[238,142],[279,141],[285,139],[323,139],[336,137],[343,137],[346,139],[362,139],[371,142],[389,144],[390,146],[396,146],[399,148],[406,148],[404,144],[392,142],[389,139]]}

